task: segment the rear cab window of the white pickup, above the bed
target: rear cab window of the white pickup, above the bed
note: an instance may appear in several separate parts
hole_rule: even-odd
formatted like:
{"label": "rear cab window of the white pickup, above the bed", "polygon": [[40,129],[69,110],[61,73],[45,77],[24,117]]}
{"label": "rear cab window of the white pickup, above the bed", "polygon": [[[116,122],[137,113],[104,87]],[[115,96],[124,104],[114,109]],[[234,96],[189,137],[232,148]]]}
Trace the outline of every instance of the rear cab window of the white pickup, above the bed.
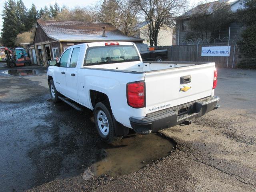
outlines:
{"label": "rear cab window of the white pickup, above the bed", "polygon": [[84,66],[130,61],[140,61],[133,45],[96,46],[87,49]]}

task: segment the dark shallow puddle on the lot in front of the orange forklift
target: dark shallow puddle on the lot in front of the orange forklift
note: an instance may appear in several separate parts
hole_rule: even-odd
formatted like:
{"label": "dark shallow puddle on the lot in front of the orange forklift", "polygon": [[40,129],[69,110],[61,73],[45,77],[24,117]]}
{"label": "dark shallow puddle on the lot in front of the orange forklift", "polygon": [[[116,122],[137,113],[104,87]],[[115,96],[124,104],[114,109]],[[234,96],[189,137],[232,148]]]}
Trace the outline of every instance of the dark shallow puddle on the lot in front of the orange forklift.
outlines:
{"label": "dark shallow puddle on the lot in front of the orange forklift", "polygon": [[3,70],[0,74],[4,76],[31,76],[46,73],[46,70],[37,70],[37,69],[11,69]]}

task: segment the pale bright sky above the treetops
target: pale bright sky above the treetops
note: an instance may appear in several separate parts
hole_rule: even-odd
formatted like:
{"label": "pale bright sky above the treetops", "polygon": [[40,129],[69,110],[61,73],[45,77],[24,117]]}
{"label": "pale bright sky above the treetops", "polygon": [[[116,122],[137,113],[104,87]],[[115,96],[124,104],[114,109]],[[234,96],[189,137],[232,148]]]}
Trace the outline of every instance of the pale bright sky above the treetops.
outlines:
{"label": "pale bright sky above the treetops", "polygon": [[[189,7],[193,7],[198,4],[201,0],[188,0],[190,2]],[[213,1],[213,0],[211,0]],[[4,8],[4,2],[5,0],[0,0],[0,13],[2,14],[3,8]],[[66,5],[69,8],[72,8],[76,5],[78,6],[87,6],[87,5],[92,5],[96,4],[98,0],[23,0],[26,8],[30,8],[31,4],[34,3],[36,5],[36,8],[39,10],[40,8],[43,8],[44,6],[50,6],[50,4],[54,4],[57,2],[60,6]],[[0,16],[0,30],[2,29],[2,16]]]}

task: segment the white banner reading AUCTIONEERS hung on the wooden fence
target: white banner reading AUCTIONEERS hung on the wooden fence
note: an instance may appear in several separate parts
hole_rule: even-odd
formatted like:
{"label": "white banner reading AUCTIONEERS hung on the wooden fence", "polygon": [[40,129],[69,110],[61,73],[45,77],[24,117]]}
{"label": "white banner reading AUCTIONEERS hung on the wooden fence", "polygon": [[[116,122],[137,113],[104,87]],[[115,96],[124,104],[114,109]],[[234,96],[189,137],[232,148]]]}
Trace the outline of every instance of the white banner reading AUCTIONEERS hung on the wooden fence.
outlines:
{"label": "white banner reading AUCTIONEERS hung on the wooden fence", "polygon": [[229,56],[230,46],[202,47],[201,56]]}

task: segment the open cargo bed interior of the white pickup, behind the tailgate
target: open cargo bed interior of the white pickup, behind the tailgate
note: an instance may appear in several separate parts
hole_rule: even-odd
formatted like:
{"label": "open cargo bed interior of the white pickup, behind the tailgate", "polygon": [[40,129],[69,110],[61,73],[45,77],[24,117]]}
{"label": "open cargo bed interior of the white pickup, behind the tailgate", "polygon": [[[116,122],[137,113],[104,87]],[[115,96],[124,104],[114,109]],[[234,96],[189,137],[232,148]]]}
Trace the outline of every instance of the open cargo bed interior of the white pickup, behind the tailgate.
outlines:
{"label": "open cargo bed interior of the white pickup, behind the tailgate", "polygon": [[210,62],[130,62],[130,63],[112,63],[84,66],[84,68],[93,68],[101,70],[116,70],[120,72],[154,72],[159,70],[170,70],[174,68],[195,66],[201,64],[208,64]]}

